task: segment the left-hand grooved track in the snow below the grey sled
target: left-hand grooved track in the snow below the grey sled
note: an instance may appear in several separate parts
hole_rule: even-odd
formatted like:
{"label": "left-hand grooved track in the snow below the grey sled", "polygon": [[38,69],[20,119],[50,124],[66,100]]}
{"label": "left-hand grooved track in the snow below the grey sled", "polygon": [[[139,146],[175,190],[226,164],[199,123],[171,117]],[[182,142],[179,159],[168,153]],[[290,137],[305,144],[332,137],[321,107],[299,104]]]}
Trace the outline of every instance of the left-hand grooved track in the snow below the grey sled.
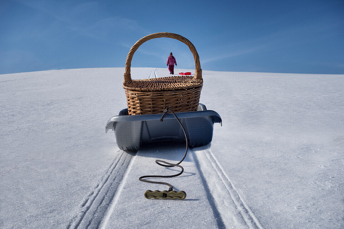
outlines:
{"label": "left-hand grooved track in the snow below the grey sled", "polygon": [[127,171],[132,155],[122,151],[112,161],[105,175],[84,198],[78,213],[69,221],[67,229],[98,228]]}

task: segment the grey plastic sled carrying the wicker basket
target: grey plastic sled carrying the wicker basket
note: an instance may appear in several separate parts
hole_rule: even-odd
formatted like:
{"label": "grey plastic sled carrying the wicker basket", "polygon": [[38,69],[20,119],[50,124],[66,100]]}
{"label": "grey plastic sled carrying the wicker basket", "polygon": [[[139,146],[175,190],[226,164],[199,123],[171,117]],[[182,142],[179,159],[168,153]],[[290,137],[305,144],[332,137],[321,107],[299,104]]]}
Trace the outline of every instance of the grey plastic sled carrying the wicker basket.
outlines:
{"label": "grey plastic sled carrying the wicker basket", "polygon": [[[114,130],[119,149],[126,151],[137,151],[142,143],[157,140],[185,141],[183,130],[173,114],[165,114],[163,122],[160,122],[161,115],[128,115],[128,109],[123,109],[118,116],[109,119],[105,132]],[[179,112],[176,116],[183,124],[192,147],[206,145],[212,141],[214,123],[221,123],[222,126],[219,114],[207,110],[201,103],[197,111]]]}

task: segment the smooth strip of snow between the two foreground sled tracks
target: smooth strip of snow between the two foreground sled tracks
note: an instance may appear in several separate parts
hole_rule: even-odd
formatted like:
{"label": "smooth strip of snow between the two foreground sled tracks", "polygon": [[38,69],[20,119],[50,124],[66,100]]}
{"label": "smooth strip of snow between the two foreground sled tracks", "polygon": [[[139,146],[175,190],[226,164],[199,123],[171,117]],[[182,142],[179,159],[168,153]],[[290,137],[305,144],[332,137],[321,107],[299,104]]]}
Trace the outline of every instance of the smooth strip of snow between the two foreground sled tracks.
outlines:
{"label": "smooth strip of snow between the two foreground sled tracks", "polygon": [[[186,201],[161,201],[161,199],[151,199],[151,201],[147,201],[147,199],[143,197],[143,193],[147,189],[155,190],[160,188],[160,190],[167,190],[166,188],[168,187],[143,183],[139,181],[138,177],[150,174],[172,175],[178,173],[180,171],[179,168],[166,169],[158,166],[155,164],[154,158],[159,155],[159,158],[162,156],[162,160],[178,163],[183,157],[183,151],[181,151],[183,146],[150,146],[138,152],[137,156],[135,156],[135,159],[132,161],[126,183],[123,186],[122,193],[117,203],[115,202],[110,207],[110,214],[104,219],[104,228],[115,228],[120,225],[124,225],[124,227],[139,228],[147,226],[147,223],[149,223],[148,225],[154,225],[156,228],[174,228],[180,225],[181,221],[185,228],[212,228],[216,225],[216,219],[211,204],[206,198],[202,198],[206,196],[206,190],[191,153],[189,153],[183,161],[183,167],[186,171],[181,176],[170,179],[155,179],[171,183],[176,191],[184,190],[187,195]],[[178,181],[175,181],[177,179]],[[202,211],[195,209],[202,209]],[[185,220],[185,218],[187,218],[187,220]]]}

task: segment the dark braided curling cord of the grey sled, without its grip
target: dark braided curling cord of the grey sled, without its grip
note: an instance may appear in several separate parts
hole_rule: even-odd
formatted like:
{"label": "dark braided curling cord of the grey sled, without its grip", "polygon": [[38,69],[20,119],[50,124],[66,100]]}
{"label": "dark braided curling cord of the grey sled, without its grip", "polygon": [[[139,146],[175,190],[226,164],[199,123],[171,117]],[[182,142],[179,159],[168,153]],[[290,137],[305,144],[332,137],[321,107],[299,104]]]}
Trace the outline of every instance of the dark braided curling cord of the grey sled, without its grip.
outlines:
{"label": "dark braided curling cord of the grey sled, without its grip", "polygon": [[[185,157],[186,157],[187,149],[188,149],[188,147],[189,147],[189,141],[188,141],[188,139],[187,139],[186,131],[185,131],[185,129],[184,129],[184,127],[183,127],[181,121],[179,120],[179,118],[176,116],[176,114],[175,114],[173,111],[169,110],[171,107],[172,107],[172,106],[169,106],[169,107],[167,107],[167,108],[164,110],[164,112],[162,113],[162,116],[161,116],[161,118],[160,118],[160,122],[163,121],[163,118],[164,118],[165,114],[167,114],[168,112],[171,112],[171,113],[174,115],[174,117],[177,119],[177,121],[179,122],[180,126],[182,127],[183,132],[184,132],[184,135],[185,135],[185,140],[186,140],[185,154],[184,154],[183,159],[182,159],[180,162],[176,163],[176,164],[173,164],[173,163],[170,163],[170,162],[166,162],[166,161],[162,161],[162,160],[155,160],[155,163],[157,163],[158,165],[164,166],[164,167],[174,167],[174,166],[178,166],[178,167],[180,167],[180,168],[182,169],[182,171],[181,171],[180,173],[178,173],[178,174],[175,174],[175,175],[168,175],[168,176],[147,175],[147,176],[141,176],[141,177],[139,178],[139,180],[140,180],[140,181],[143,181],[143,182],[167,185],[167,186],[170,187],[170,188],[169,188],[169,191],[172,191],[172,190],[173,190],[173,186],[172,186],[171,184],[169,184],[169,183],[160,182],[160,181],[148,181],[148,180],[144,180],[144,179],[142,179],[142,178],[148,178],[148,177],[176,177],[176,176],[181,175],[181,174],[184,172],[184,168],[183,168],[181,165],[179,165],[179,164],[182,163],[182,161],[184,161],[184,159],[185,159]],[[161,164],[161,163],[159,163],[159,162],[164,163],[164,164]]]}

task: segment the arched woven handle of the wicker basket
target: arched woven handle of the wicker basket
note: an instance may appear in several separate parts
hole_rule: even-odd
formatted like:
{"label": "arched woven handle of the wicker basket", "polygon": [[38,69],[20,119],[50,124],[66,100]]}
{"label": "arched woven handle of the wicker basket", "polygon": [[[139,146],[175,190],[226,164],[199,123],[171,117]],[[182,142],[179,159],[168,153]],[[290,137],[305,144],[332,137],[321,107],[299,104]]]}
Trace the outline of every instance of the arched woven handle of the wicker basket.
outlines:
{"label": "arched woven handle of the wicker basket", "polygon": [[131,59],[135,53],[135,51],[139,48],[141,44],[143,44],[146,41],[149,41],[154,38],[159,38],[159,37],[168,37],[168,38],[173,38],[178,41],[183,42],[186,44],[189,48],[190,51],[192,52],[194,59],[195,59],[195,65],[196,65],[196,70],[195,70],[195,76],[194,79],[202,79],[202,69],[201,69],[201,63],[200,63],[200,57],[198,56],[197,50],[195,46],[187,40],[185,37],[175,34],[175,33],[167,33],[167,32],[162,32],[162,33],[153,33],[147,36],[142,37],[140,40],[138,40],[131,48],[127,56],[127,61],[126,61],[126,70],[124,73],[124,83],[125,82],[130,82],[131,81],[131,75],[130,75],[130,66],[131,66]]}

